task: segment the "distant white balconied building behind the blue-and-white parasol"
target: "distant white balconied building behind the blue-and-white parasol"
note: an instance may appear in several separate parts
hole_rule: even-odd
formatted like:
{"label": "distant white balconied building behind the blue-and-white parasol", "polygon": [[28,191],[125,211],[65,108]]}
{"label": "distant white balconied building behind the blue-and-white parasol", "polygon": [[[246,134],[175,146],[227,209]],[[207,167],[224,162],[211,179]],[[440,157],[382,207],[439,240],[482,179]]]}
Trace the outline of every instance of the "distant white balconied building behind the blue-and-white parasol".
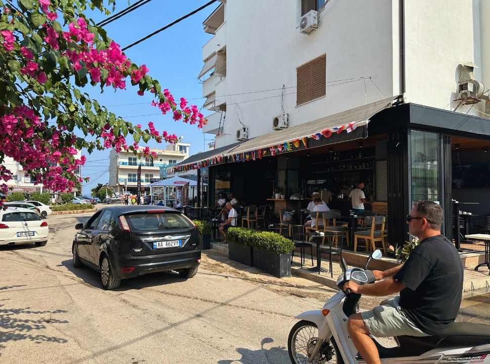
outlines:
{"label": "distant white balconied building behind the blue-and-white parasol", "polygon": [[[109,186],[115,188],[117,193],[127,191],[137,192],[137,171],[141,165],[141,187],[149,185],[152,178],[167,177],[169,165],[182,162],[189,156],[190,144],[177,143],[168,145],[165,149],[150,149],[157,153],[154,160],[147,158],[139,160],[132,153],[116,153],[113,149],[109,154]],[[150,192],[149,187],[144,192]]]}

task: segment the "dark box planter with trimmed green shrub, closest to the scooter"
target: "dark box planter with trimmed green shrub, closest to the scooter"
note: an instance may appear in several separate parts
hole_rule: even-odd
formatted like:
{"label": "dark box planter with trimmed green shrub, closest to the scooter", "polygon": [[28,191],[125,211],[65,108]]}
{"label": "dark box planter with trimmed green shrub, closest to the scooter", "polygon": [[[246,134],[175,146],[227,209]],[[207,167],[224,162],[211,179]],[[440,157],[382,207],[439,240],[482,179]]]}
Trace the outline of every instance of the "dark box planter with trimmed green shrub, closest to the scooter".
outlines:
{"label": "dark box planter with trimmed green shrub, closest to the scooter", "polygon": [[295,243],[272,232],[256,232],[253,240],[254,266],[282,278],[291,276],[291,251]]}

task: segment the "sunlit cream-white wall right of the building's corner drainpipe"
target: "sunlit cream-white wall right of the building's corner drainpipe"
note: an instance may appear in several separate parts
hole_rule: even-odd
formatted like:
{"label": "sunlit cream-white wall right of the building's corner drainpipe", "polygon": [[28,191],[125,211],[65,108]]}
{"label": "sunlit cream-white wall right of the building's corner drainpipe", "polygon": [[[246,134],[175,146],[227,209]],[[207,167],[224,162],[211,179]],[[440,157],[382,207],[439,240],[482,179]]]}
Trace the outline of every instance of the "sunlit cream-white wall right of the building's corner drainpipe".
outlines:
{"label": "sunlit cream-white wall right of the building's corner drainpipe", "polygon": [[[481,63],[480,39],[485,41],[485,34],[480,37],[479,3],[480,0],[405,2],[409,102],[449,109],[457,96],[458,64],[462,62],[474,62],[479,67],[475,69],[475,76],[482,81],[484,65]],[[487,22],[488,18],[483,20],[483,23]],[[454,109],[458,103],[451,105]],[[484,111],[484,102],[473,107]],[[461,105],[457,111],[466,113],[468,110],[468,106]],[[474,110],[468,114],[481,116]]]}

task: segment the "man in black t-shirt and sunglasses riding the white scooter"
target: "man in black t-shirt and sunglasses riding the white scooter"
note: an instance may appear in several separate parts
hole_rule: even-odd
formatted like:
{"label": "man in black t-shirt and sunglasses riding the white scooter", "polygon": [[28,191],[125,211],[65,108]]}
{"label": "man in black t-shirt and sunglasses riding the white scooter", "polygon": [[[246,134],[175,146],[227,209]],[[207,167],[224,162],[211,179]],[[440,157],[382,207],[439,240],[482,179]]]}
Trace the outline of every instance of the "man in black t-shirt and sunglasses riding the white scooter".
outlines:
{"label": "man in black t-shirt and sunglasses riding the white scooter", "polygon": [[367,364],[380,364],[378,350],[369,335],[430,336],[452,324],[463,291],[463,265],[453,244],[440,234],[443,210],[431,201],[414,203],[407,216],[410,234],[420,244],[408,260],[385,271],[374,270],[374,284],[350,281],[344,291],[369,296],[400,296],[382,301],[371,311],[349,317],[348,332]]}

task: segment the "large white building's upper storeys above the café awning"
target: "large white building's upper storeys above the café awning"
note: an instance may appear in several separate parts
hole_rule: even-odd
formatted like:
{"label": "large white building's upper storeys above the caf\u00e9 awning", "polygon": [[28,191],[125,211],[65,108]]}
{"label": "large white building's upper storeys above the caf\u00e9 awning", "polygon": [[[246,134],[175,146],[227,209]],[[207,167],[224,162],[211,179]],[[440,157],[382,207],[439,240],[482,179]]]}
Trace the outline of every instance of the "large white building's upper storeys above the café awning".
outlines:
{"label": "large white building's upper storeys above the caf\u00e9 awning", "polygon": [[[302,29],[310,10],[318,22]],[[275,116],[295,126],[401,94],[454,110],[463,63],[490,87],[489,18],[486,0],[221,0],[203,23],[214,36],[199,77],[215,111],[203,132],[219,148],[273,132]],[[485,117],[486,104],[457,111]]]}

